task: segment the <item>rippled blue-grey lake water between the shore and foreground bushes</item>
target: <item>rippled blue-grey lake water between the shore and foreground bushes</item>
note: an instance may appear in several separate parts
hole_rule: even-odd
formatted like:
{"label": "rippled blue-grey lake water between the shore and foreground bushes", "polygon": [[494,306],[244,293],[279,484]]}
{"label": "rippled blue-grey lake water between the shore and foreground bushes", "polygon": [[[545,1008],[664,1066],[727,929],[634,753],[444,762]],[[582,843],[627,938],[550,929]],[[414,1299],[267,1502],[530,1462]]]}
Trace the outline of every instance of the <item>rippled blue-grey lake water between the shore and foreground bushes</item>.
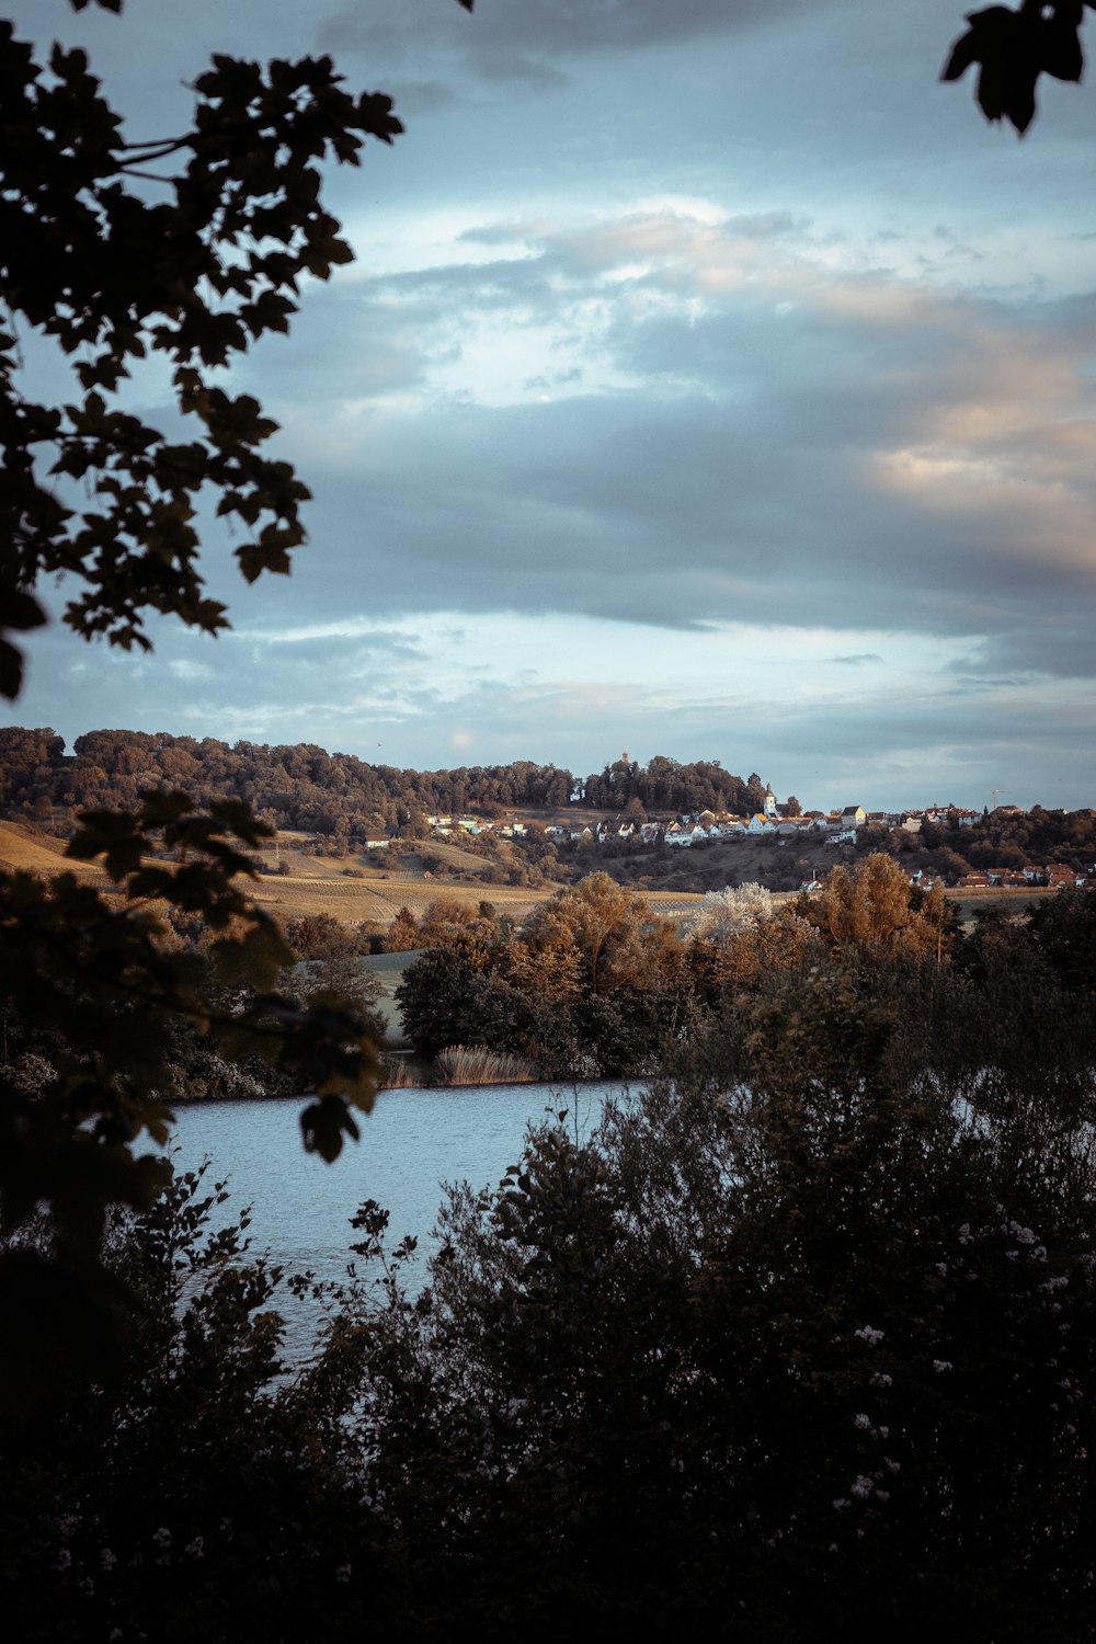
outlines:
{"label": "rippled blue-grey lake water between the shore and foreground bushes", "polygon": [[[389,1213],[391,1243],[411,1233],[419,1240],[414,1282],[426,1279],[426,1259],[437,1248],[431,1236],[445,1182],[467,1180],[495,1187],[521,1156],[529,1123],[546,1110],[569,1110],[569,1126],[580,1133],[596,1123],[606,1095],[619,1083],[475,1085],[460,1090],[385,1090],[373,1111],[360,1120],[361,1141],[348,1143],[335,1164],[306,1154],[299,1113],[304,1101],[215,1101],[177,1111],[176,1169],[212,1161],[210,1180],[227,1177],[225,1212],[245,1205],[251,1213],[251,1249],[269,1251],[289,1271],[314,1271],[322,1279],[345,1277],[350,1245],[360,1238],[350,1218],[365,1198]],[[309,1315],[284,1297],[278,1304],[289,1322],[289,1350],[307,1353]]]}

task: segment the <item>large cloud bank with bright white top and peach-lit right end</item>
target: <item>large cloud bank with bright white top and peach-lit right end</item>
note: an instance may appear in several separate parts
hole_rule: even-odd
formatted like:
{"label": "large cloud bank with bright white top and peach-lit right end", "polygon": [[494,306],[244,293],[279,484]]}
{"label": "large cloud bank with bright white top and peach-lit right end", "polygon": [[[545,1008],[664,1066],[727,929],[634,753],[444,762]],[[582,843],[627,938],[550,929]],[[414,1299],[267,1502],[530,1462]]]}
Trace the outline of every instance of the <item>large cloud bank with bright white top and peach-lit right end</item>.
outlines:
{"label": "large cloud bank with bright white top and peach-lit right end", "polygon": [[[317,498],[312,615],[429,589],[465,612],[981,633],[994,671],[1083,664],[1096,393],[1076,304],[850,268],[779,214],[472,238],[513,255],[360,281],[338,309],[350,395],[325,388],[332,358],[312,362],[322,424],[281,406]],[[380,316],[408,347],[394,396],[353,365],[355,317],[368,349]]]}

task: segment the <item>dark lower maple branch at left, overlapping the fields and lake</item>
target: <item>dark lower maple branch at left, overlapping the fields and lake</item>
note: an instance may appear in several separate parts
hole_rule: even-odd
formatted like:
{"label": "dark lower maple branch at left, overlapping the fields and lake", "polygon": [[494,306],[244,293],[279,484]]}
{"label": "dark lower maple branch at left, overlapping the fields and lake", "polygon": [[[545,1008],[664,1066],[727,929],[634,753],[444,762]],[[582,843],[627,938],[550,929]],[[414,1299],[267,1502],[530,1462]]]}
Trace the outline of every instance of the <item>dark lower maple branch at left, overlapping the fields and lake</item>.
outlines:
{"label": "dark lower maple branch at left, overlapping the fields and lake", "polygon": [[[104,858],[117,894],[74,875],[48,886],[0,875],[0,1231],[49,1207],[46,1243],[0,1258],[5,1420],[26,1419],[69,1358],[97,1342],[105,1350],[125,1323],[131,1299],[102,1266],[102,1231],[108,1207],[146,1208],[166,1182],[135,1146],[141,1134],[166,1139],[181,1021],[233,1062],[263,1055],[292,1070],[296,1088],[314,1092],[306,1146],[324,1157],[338,1154],[343,1133],[357,1136],[348,1103],[371,1105],[368,1024],[271,991],[292,954],[240,888],[255,876],[246,852],[261,835],[243,806],[210,815],[182,794],[158,794],[136,815],[87,814],[69,845],[76,860]],[[163,907],[202,921],[202,952],[179,944]],[[28,1088],[21,1052],[36,1047],[48,1077]]]}

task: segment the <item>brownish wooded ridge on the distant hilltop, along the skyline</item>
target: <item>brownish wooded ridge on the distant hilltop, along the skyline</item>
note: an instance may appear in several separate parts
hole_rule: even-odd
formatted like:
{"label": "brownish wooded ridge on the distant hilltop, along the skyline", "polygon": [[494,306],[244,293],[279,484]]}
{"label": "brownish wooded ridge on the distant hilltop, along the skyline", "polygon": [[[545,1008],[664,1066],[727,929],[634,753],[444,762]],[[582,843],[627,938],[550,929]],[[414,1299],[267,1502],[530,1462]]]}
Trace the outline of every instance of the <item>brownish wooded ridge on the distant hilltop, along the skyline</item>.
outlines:
{"label": "brownish wooded ridge on the distant hilltop, along the skyline", "polygon": [[53,730],[0,730],[0,814],[7,817],[49,822],[58,810],[128,807],[141,791],[171,787],[202,806],[225,796],[243,799],[260,820],[319,834],[337,848],[361,847],[378,835],[421,837],[424,817],[435,814],[560,810],[572,794],[610,812],[629,802],[661,814],[756,810],[764,804],[758,776],[743,783],[718,761],[679,764],[657,756],[646,769],[618,761],[582,783],[570,771],[531,760],[411,771],[311,743],[228,745],[168,732],[95,730],[77,737],[66,755]]}

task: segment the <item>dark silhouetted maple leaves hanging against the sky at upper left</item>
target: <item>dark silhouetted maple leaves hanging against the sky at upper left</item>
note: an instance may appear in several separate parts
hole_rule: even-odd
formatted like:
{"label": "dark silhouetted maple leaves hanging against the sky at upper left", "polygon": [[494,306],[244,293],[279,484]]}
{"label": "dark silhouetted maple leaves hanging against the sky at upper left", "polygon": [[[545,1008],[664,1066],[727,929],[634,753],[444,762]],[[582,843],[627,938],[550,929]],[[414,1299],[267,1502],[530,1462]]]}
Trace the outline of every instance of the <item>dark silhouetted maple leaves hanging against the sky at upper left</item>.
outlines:
{"label": "dark silhouetted maple leaves hanging against the sky at upper left", "polygon": [[[348,95],[330,58],[261,69],[217,56],[194,82],[189,132],[128,143],[82,51],[54,46],[44,69],[5,23],[0,76],[3,625],[39,623],[33,590],[64,572],[84,584],[66,610],[84,636],[150,649],[148,610],[215,633],[223,607],[197,567],[202,493],[243,524],[235,554],[248,582],[289,569],[309,495],[289,464],[261,454],[276,424],[215,373],[288,330],[306,276],[327,279],[350,261],[320,204],[319,166],[329,155],[357,166],[366,138],[391,143],[401,130],[391,99]],[[150,202],[150,178],[171,197]],[[71,403],[25,396],[20,326],[71,362]],[[171,367],[182,439],[118,396],[150,357]],[[58,477],[72,482],[61,495]],[[8,641],[0,667],[0,689],[15,695]]]}

